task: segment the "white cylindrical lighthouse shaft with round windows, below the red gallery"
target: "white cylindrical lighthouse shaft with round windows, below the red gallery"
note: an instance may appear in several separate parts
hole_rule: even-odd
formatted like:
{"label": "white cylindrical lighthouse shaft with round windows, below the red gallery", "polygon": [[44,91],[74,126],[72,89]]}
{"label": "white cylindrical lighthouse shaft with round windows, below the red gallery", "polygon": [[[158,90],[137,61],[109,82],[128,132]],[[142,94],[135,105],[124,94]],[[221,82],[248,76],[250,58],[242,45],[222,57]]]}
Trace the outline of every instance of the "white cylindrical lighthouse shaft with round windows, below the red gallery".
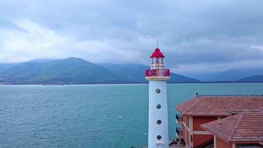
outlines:
{"label": "white cylindrical lighthouse shaft with round windows, below the red gallery", "polygon": [[148,148],[169,148],[166,80],[149,81]]}

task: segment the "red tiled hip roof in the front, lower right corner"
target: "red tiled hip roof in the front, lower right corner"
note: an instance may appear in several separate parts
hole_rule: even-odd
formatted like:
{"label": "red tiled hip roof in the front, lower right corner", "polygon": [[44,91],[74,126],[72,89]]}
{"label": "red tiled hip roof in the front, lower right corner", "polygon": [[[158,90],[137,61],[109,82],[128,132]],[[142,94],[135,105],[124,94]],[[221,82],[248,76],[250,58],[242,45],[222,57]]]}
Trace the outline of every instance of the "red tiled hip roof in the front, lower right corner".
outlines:
{"label": "red tiled hip roof in the front, lower right corner", "polygon": [[242,112],[200,126],[227,142],[263,141],[263,112]]}

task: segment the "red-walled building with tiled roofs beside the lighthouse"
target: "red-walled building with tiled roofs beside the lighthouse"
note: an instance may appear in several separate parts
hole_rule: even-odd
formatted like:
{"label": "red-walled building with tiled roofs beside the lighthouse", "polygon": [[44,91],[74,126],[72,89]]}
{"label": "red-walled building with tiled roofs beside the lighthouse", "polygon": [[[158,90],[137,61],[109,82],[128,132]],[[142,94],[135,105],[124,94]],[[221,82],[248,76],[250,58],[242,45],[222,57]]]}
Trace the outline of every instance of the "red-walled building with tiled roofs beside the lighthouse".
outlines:
{"label": "red-walled building with tiled roofs beside the lighthouse", "polygon": [[[263,95],[197,94],[175,108],[181,113],[176,114],[176,122],[182,125],[182,128],[176,128],[176,135],[186,143],[186,148],[262,147],[263,138],[260,137],[263,135]],[[254,120],[257,123],[254,124]],[[245,129],[248,125],[250,129]],[[253,134],[255,129],[259,129],[256,131],[259,134]],[[242,133],[251,134],[238,136]],[[245,139],[248,137],[253,140],[252,137],[256,136],[257,141]],[[247,147],[247,144],[252,144],[253,147]]]}

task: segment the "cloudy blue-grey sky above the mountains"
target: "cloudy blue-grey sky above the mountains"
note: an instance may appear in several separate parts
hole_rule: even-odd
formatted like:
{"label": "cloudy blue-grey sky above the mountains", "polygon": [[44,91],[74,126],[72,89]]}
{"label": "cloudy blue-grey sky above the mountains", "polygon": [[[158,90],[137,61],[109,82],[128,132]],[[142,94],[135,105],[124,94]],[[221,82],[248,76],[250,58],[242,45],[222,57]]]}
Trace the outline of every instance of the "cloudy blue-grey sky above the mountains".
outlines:
{"label": "cloudy blue-grey sky above the mountains", "polygon": [[180,74],[263,67],[263,0],[0,0],[0,63],[80,57]]}

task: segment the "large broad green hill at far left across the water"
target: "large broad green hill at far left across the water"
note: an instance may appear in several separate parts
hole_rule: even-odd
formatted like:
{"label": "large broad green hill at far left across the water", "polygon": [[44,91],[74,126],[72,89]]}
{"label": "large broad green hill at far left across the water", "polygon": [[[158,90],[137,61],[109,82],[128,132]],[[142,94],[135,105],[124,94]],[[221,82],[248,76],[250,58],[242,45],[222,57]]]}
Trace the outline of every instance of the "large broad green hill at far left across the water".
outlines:
{"label": "large broad green hill at far left across the water", "polygon": [[0,77],[20,83],[100,84],[122,82],[120,77],[110,70],[74,57],[45,63],[21,63],[3,72]]}

